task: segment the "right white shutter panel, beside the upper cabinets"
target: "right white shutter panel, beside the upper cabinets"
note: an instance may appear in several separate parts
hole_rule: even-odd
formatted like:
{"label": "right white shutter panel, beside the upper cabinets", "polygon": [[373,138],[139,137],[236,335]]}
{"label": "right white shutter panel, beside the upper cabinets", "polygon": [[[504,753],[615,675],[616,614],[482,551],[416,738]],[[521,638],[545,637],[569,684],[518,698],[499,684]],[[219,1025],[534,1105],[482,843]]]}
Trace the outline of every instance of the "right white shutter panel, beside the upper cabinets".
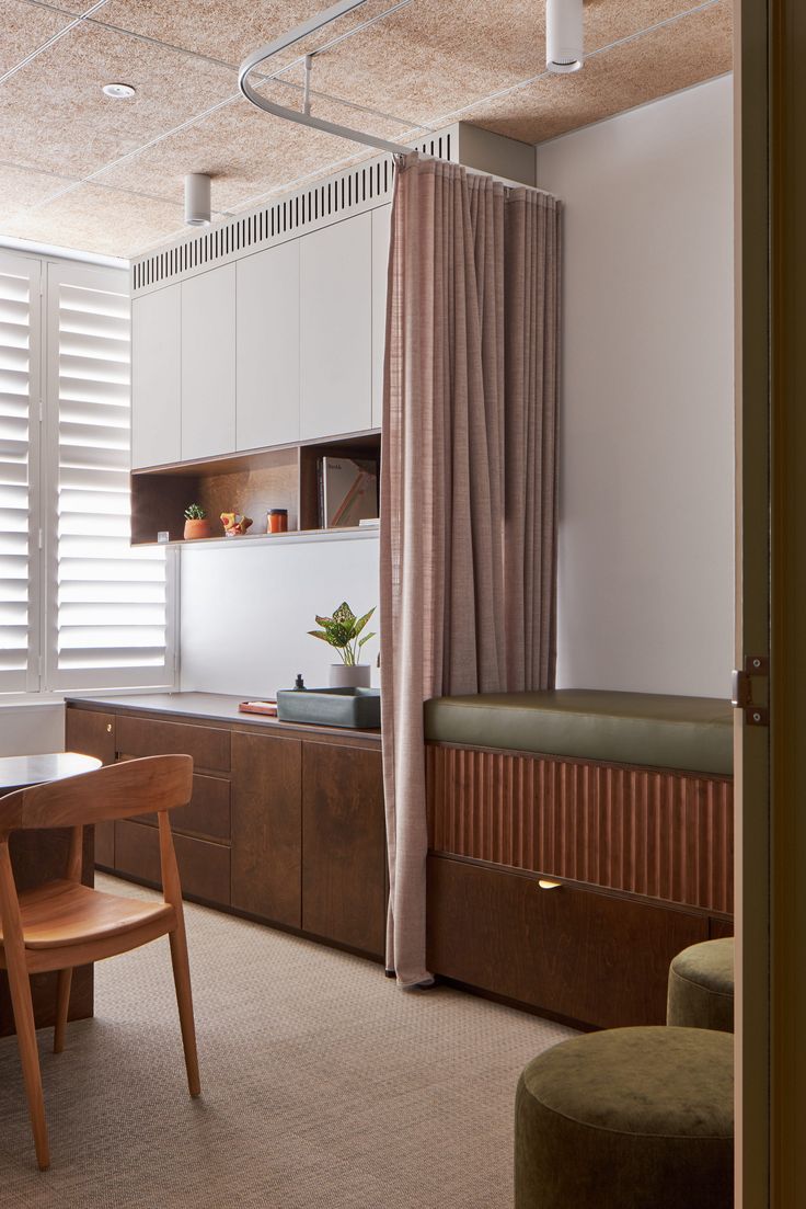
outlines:
{"label": "right white shutter panel, beside the upper cabinets", "polygon": [[129,545],[131,305],[112,268],[48,266],[51,688],[173,681],[166,550]]}

